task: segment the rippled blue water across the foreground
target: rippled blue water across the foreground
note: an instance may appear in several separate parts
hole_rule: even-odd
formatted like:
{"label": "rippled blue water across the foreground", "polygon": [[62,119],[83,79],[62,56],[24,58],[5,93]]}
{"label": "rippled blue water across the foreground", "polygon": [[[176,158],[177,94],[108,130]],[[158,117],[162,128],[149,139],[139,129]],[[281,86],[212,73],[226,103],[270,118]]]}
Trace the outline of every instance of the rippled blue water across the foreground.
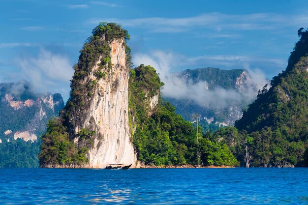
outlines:
{"label": "rippled blue water across the foreground", "polygon": [[0,205],[308,205],[308,169],[0,169]]}

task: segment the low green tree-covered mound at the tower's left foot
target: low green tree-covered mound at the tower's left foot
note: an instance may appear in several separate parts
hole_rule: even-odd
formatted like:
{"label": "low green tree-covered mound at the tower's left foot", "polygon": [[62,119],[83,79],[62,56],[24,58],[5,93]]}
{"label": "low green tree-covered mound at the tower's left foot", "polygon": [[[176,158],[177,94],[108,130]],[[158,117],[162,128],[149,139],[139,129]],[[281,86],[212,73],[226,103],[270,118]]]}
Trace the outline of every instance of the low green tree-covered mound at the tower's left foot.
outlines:
{"label": "low green tree-covered mound at the tower's left foot", "polygon": [[[87,137],[92,132],[81,130],[80,135]],[[42,144],[39,154],[41,165],[70,165],[88,162],[87,148],[78,149],[73,141],[68,139],[66,128],[60,119],[54,118],[47,123],[47,132],[41,136]]]}

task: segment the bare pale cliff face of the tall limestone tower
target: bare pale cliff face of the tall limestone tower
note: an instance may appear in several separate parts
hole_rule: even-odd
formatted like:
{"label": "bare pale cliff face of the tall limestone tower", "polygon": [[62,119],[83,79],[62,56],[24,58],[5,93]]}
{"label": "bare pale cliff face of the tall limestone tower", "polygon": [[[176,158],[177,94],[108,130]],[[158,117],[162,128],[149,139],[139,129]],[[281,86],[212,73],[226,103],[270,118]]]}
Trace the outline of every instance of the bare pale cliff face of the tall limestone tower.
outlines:
{"label": "bare pale cliff face of the tall limestone tower", "polygon": [[[97,81],[87,109],[74,129],[74,134],[83,128],[96,132],[89,149],[89,163],[84,167],[105,168],[108,164],[132,164],[134,167],[137,161],[129,136],[129,68],[126,66],[123,42],[124,40],[115,40],[111,43],[112,69],[106,72],[105,79]],[[96,79],[94,72],[98,69],[97,63],[100,60],[85,82]],[[77,138],[74,143],[81,146],[84,142]]]}

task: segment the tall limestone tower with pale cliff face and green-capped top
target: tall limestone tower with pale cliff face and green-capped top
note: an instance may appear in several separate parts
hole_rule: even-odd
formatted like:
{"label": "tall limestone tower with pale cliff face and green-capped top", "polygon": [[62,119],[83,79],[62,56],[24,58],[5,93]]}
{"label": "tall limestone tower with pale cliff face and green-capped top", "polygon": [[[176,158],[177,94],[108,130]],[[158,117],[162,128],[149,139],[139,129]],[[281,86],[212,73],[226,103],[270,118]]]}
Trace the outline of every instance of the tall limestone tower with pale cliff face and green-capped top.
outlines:
{"label": "tall limestone tower with pale cliff face and green-capped top", "polygon": [[[100,24],[92,34],[74,66],[70,99],[62,112],[65,135],[84,150],[87,160],[80,167],[135,166],[128,123],[129,36],[114,23]],[[41,160],[43,167],[55,164],[50,163]]]}

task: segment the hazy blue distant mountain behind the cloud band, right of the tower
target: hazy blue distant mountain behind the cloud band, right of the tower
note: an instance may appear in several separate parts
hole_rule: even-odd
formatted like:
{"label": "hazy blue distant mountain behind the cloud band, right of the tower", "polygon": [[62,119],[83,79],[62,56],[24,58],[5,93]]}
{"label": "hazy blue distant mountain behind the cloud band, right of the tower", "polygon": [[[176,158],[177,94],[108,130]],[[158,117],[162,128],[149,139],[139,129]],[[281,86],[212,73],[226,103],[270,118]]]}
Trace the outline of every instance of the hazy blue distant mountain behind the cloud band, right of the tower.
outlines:
{"label": "hazy blue distant mountain behind the cloud band, right of the tower", "polygon": [[[215,105],[215,100],[212,102],[209,99],[204,99],[205,103],[202,103],[203,99],[196,101],[188,97],[177,99],[164,96],[167,101],[176,107],[176,113],[182,115],[186,120],[194,121],[192,114],[199,114],[201,126],[207,129],[216,130],[219,126],[234,125],[235,121],[242,116],[243,108],[253,102],[259,90],[248,71],[244,69],[222,70],[207,67],[187,69],[176,73],[176,75],[184,79],[186,84],[203,85],[201,90],[209,92],[210,97],[219,95],[221,92],[218,89],[224,90],[227,94],[228,91],[232,90],[235,95],[239,96],[239,99],[233,99],[234,96],[229,93],[232,99],[228,100],[228,96],[226,96],[226,105],[223,106]],[[201,90],[200,92],[202,92]],[[206,97],[207,95],[204,96],[204,98]]]}

